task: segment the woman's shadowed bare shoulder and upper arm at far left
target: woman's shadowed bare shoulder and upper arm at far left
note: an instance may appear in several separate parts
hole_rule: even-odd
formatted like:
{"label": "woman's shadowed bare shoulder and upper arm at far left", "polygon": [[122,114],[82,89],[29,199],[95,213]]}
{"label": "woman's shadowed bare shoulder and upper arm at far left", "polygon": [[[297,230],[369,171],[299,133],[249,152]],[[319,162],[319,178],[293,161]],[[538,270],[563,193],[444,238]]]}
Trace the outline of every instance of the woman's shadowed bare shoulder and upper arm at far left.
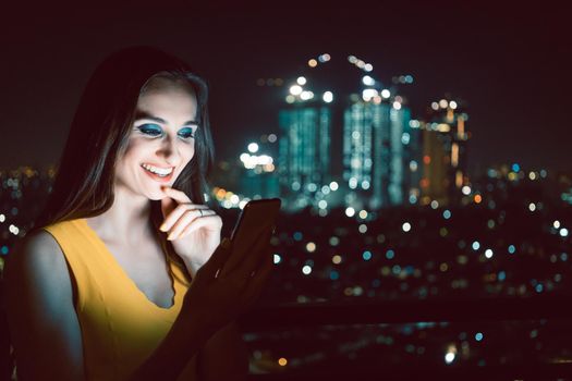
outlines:
{"label": "woman's shadowed bare shoulder and upper arm at far left", "polygon": [[42,230],[29,234],[10,254],[5,271],[8,320],[19,376],[82,379],[82,336],[72,278],[56,238]]}

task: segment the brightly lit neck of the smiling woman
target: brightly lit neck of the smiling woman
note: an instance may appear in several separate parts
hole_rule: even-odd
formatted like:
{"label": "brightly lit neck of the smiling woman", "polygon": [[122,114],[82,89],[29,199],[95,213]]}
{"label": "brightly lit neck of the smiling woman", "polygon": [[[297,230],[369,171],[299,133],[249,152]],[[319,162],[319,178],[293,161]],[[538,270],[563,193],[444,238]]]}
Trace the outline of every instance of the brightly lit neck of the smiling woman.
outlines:
{"label": "brightly lit neck of the smiling woman", "polygon": [[136,244],[147,239],[151,233],[149,213],[148,198],[115,187],[111,208],[102,214],[88,218],[87,223],[106,242]]}

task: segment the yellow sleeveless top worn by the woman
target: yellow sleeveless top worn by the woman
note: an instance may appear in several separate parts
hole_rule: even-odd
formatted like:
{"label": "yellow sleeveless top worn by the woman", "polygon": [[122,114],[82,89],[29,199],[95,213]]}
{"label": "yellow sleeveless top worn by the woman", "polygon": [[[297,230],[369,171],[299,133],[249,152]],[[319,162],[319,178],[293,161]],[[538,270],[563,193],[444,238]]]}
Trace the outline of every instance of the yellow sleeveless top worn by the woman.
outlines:
{"label": "yellow sleeveless top worn by the woman", "polygon": [[[75,311],[88,380],[123,380],[158,346],[173,324],[186,286],[173,276],[174,303],[150,302],[85,219],[44,228],[60,245],[77,286]],[[173,272],[183,278],[181,270]],[[190,361],[180,379],[193,379]]]}

